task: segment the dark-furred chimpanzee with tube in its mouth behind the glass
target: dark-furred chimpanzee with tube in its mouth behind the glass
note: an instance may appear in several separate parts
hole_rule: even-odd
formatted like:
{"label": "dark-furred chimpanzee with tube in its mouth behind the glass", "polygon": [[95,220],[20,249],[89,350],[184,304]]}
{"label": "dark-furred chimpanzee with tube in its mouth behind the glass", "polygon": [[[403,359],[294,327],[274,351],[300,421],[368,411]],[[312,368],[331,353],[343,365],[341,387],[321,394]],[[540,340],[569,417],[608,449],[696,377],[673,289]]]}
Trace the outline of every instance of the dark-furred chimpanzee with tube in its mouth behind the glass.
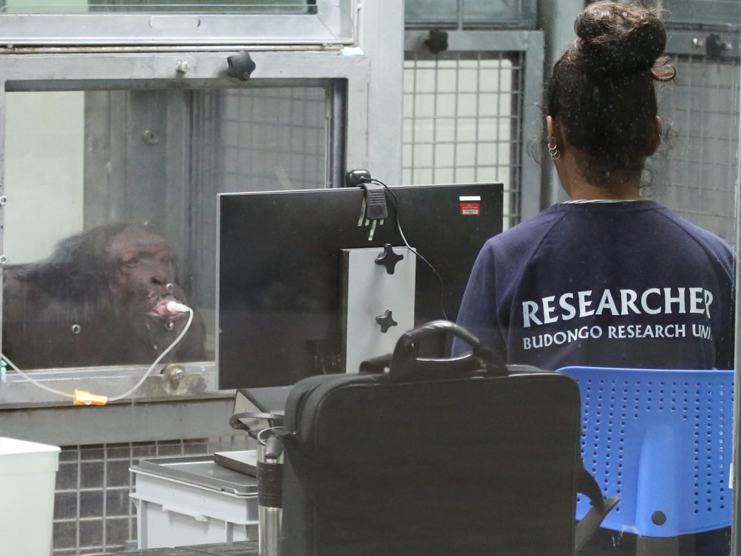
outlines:
{"label": "dark-furred chimpanzee with tube in its mouth behind the glass", "polygon": [[[21,370],[151,364],[187,321],[153,311],[167,295],[187,303],[172,246],[130,224],[73,235],[46,260],[4,267],[3,276],[2,351]],[[195,315],[165,361],[202,360],[203,340]]]}

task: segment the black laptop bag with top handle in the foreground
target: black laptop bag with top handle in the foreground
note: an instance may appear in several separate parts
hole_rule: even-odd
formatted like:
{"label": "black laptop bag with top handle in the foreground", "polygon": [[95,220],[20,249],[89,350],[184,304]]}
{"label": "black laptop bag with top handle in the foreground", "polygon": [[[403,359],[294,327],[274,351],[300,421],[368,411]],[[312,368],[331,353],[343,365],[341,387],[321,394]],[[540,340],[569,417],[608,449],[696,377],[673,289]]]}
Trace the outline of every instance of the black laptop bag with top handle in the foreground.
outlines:
{"label": "black laptop bag with top handle in the foreground", "polygon": [[[473,353],[417,358],[415,344],[441,332]],[[571,556],[617,503],[583,469],[572,378],[508,371],[447,321],[362,369],[388,360],[387,373],[290,392],[282,556]],[[579,533],[577,489],[594,504]]]}

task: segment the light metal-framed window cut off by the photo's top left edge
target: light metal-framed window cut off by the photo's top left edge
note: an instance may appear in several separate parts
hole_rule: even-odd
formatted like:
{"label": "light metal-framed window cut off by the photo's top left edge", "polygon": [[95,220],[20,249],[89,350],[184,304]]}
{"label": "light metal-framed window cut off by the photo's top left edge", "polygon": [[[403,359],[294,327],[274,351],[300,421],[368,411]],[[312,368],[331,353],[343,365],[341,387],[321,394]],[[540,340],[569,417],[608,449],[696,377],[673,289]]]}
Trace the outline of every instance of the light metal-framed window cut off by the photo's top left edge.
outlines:
{"label": "light metal-framed window cut off by the photo's top left edge", "polygon": [[8,44],[352,44],[352,0],[0,0]]}

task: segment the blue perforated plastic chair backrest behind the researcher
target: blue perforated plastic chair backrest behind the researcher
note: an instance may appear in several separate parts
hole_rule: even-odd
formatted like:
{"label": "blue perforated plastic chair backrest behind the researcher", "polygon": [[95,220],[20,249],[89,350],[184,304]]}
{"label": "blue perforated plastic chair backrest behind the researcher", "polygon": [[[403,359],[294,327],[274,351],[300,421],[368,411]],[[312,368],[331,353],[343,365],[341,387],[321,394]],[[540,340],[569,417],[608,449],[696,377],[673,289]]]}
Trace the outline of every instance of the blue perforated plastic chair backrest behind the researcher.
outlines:
{"label": "blue perforated plastic chair backrest behind the researcher", "polygon": [[[565,367],[582,395],[582,458],[602,526],[675,537],[731,524],[733,371]],[[589,509],[580,497],[576,518]]]}

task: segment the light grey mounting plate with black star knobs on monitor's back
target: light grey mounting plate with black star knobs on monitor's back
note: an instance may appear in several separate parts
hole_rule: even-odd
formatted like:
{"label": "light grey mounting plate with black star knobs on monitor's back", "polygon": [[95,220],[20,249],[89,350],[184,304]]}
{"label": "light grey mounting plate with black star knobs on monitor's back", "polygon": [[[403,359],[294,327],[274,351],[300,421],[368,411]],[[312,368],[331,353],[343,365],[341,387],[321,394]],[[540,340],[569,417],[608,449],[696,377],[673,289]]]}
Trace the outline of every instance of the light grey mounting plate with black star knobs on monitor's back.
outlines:
{"label": "light grey mounting plate with black star knobs on monitor's back", "polygon": [[399,336],[414,328],[416,255],[390,245],[341,255],[342,363],[346,372],[358,372],[363,361],[393,352]]}

